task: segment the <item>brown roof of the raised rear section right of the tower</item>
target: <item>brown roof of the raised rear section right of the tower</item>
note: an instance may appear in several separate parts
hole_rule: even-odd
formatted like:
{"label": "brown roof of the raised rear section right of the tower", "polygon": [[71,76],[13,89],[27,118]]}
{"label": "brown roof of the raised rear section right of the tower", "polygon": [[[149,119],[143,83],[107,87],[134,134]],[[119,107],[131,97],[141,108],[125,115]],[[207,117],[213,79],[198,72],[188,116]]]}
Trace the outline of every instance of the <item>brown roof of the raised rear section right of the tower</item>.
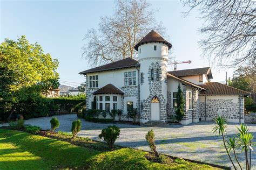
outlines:
{"label": "brown roof of the raised rear section right of the tower", "polygon": [[213,79],[210,67],[174,70],[168,73],[177,77],[206,74],[208,79]]}

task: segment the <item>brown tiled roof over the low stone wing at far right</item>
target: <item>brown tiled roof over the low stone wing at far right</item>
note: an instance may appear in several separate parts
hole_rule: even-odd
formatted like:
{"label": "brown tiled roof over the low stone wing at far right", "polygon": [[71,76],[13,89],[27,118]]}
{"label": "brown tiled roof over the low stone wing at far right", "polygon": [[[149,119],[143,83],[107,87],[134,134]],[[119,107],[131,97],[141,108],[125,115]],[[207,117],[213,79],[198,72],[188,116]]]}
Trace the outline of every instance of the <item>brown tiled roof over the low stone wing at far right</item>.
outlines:
{"label": "brown tiled roof over the low stone wing at far right", "polygon": [[199,95],[250,95],[250,92],[240,90],[219,82],[207,82],[198,85],[206,90],[200,91]]}

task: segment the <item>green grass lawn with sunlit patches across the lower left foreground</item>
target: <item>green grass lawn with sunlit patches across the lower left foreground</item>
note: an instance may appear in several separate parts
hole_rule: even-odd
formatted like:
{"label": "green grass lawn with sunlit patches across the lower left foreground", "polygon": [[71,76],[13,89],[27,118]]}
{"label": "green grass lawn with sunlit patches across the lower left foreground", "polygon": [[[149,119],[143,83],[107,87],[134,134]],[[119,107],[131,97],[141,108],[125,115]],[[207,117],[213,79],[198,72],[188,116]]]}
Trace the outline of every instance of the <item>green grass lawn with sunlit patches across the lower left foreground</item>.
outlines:
{"label": "green grass lawn with sunlit patches across the lower left foreground", "polygon": [[147,152],[121,148],[101,152],[66,141],[0,129],[1,169],[213,169],[176,159],[171,165],[150,162]]}

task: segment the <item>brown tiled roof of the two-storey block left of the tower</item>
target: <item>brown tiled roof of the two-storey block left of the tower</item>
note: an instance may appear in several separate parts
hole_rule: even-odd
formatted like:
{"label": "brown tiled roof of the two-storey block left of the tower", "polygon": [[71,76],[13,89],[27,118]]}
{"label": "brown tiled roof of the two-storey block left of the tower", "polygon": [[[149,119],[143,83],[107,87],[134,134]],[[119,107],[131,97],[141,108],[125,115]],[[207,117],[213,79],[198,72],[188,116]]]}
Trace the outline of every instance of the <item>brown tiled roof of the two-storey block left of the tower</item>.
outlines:
{"label": "brown tiled roof of the two-storey block left of the tower", "polygon": [[86,74],[86,73],[93,73],[93,72],[103,72],[106,70],[113,70],[113,69],[119,69],[119,68],[127,68],[127,67],[135,67],[139,66],[139,62],[137,60],[134,60],[132,58],[125,58],[123,60],[115,61],[108,63],[103,66],[87,69],[83,72],[80,72],[79,74]]}

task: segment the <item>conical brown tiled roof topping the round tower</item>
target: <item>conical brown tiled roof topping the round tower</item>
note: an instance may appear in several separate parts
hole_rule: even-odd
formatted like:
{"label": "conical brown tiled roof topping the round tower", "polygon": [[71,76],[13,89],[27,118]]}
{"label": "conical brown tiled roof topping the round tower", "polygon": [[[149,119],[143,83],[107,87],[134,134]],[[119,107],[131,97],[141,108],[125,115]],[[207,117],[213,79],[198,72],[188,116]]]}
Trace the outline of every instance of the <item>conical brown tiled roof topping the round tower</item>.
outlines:
{"label": "conical brown tiled roof topping the round tower", "polygon": [[138,47],[147,42],[163,42],[170,49],[172,47],[171,43],[166,41],[163,37],[161,37],[156,31],[151,30],[142,40],[140,40],[135,46],[134,49],[138,51]]}

